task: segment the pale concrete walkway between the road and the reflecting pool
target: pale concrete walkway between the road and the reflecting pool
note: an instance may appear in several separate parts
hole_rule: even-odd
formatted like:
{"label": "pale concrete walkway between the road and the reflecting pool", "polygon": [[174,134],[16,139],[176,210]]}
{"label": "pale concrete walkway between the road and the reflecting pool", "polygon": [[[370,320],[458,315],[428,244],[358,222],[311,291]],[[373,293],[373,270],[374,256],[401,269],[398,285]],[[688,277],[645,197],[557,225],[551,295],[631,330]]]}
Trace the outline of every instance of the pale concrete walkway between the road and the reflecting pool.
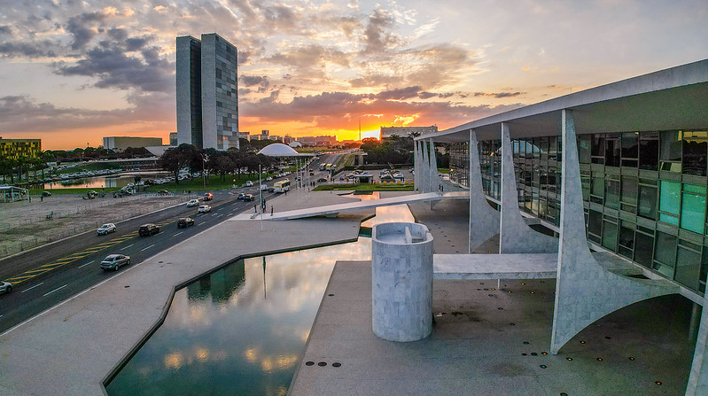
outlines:
{"label": "pale concrete walkway between the road and the reflecting pool", "polygon": [[[276,198],[284,210],[358,201],[328,192]],[[223,221],[0,336],[0,394],[100,395],[101,382],[156,325],[175,286],[238,256],[356,240],[373,210],[338,219]],[[2,314],[2,313],[0,313]]]}

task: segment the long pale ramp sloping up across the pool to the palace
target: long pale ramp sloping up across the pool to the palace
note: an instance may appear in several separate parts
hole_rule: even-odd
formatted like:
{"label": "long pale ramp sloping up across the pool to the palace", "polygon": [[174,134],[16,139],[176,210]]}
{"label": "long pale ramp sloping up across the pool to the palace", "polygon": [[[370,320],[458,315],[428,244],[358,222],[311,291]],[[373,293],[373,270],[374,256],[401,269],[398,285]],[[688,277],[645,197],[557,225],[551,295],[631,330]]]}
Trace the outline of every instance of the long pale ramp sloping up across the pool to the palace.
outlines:
{"label": "long pale ramp sloping up across the pool to the palace", "polygon": [[[467,191],[454,191],[446,192],[440,194],[438,192],[426,192],[424,194],[410,194],[401,197],[392,198],[381,198],[381,199],[369,199],[360,202],[348,202],[346,204],[336,204],[327,206],[315,206],[308,207],[304,209],[295,209],[286,212],[274,213],[272,216],[268,213],[263,214],[263,220],[295,220],[304,219],[307,217],[315,216],[328,216],[336,215],[343,212],[354,212],[362,209],[376,208],[379,206],[393,206],[401,204],[412,204],[416,202],[426,202],[426,201],[441,201],[446,199],[469,199],[469,193]],[[255,217],[260,218],[260,215]],[[252,220],[253,213],[251,214],[238,214],[232,217],[230,220]]]}

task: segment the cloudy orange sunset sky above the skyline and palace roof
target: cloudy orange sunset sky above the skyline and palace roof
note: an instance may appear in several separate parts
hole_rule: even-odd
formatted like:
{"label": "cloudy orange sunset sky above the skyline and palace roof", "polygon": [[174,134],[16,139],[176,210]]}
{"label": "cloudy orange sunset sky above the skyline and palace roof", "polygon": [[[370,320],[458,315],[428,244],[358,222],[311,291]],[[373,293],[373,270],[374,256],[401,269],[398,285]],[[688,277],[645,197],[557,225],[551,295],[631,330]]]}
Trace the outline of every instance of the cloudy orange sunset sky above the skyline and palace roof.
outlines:
{"label": "cloudy orange sunset sky above the skyline and palace roof", "polygon": [[450,128],[708,58],[705,0],[75,1],[0,7],[0,136],[43,150],[159,136],[175,37],[237,46],[242,131]]}

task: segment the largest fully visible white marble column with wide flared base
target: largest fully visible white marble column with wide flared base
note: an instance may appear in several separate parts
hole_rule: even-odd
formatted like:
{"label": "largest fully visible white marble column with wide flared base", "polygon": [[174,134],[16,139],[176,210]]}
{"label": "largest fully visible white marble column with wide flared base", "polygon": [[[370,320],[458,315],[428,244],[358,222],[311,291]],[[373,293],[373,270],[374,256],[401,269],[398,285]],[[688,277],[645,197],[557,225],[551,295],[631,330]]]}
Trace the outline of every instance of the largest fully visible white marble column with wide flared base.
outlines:
{"label": "largest fully visible white marble column with wide flared base", "polygon": [[636,279],[603,268],[587,247],[580,163],[572,113],[562,111],[561,227],[550,352],[558,353],[580,330],[643,299],[679,291],[665,280]]}

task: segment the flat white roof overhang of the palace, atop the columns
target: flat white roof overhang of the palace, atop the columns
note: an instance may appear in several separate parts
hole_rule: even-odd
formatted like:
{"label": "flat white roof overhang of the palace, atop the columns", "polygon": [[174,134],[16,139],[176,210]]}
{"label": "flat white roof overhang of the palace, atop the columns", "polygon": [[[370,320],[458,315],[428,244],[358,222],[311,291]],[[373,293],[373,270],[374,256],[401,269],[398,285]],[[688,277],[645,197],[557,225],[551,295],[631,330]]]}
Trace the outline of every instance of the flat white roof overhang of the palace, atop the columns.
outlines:
{"label": "flat white roof overhang of the palace, atop the columns", "polygon": [[499,139],[507,122],[512,139],[559,136],[561,111],[572,110],[576,133],[708,128],[708,59],[556,97],[416,137],[435,142]]}

